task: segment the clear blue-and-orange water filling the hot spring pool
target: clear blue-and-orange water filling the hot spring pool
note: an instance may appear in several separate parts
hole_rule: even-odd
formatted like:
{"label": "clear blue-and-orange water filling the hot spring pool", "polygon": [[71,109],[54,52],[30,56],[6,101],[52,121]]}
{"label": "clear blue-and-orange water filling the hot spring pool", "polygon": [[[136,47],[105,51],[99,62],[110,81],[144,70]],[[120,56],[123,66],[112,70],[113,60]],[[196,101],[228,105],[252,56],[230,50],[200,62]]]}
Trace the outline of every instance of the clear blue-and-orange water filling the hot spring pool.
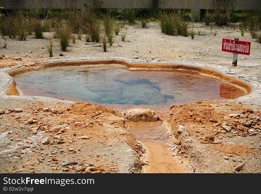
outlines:
{"label": "clear blue-and-orange water filling the hot spring pool", "polygon": [[238,88],[198,74],[128,70],[120,65],[50,68],[13,79],[22,95],[102,105],[179,105],[245,95]]}

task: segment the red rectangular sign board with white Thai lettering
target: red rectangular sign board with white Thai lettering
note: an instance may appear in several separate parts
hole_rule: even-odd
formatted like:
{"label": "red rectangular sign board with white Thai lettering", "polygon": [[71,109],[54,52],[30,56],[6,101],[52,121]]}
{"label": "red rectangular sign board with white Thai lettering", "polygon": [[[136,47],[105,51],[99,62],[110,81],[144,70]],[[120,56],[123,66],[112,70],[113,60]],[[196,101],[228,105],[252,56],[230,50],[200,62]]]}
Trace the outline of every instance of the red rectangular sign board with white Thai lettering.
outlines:
{"label": "red rectangular sign board with white Thai lettering", "polygon": [[222,51],[250,55],[251,42],[223,39]]}

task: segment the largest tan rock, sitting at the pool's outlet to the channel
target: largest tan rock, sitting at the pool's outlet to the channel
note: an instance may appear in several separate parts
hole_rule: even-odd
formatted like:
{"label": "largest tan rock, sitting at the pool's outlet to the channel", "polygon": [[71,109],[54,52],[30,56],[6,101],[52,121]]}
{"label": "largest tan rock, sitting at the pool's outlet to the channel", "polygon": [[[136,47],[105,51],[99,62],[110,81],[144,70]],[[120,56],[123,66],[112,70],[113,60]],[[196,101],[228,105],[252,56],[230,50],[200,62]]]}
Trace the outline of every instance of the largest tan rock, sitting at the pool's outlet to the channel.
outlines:
{"label": "largest tan rock, sitting at the pool's outlet to the channel", "polygon": [[125,113],[125,119],[133,122],[157,121],[157,114],[149,108],[133,108]]}

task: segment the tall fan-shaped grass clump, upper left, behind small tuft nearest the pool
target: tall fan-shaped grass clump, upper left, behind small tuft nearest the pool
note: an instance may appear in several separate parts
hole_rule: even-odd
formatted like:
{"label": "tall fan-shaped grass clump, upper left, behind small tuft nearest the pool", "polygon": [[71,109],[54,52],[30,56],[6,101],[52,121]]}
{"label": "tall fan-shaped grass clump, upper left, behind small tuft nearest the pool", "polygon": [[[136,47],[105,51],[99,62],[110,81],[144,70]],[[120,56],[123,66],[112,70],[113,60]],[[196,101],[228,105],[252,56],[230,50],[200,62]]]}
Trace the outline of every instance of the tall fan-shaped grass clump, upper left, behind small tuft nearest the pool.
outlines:
{"label": "tall fan-shaped grass clump, upper left, behind small tuft nearest the pool", "polygon": [[71,26],[69,26],[66,23],[58,24],[55,34],[59,41],[61,50],[66,51],[66,48],[69,46],[71,40],[71,35],[72,35]]}

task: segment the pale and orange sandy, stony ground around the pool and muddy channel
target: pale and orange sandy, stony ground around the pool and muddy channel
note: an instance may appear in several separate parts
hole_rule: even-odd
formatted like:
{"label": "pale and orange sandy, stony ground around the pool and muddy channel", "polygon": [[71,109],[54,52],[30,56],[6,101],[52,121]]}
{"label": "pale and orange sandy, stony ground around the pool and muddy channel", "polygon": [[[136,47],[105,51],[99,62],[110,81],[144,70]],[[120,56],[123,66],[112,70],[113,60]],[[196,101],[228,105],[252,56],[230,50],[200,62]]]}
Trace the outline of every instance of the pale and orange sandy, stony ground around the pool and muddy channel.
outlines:
{"label": "pale and orange sandy, stony ground around the pool and muddy channel", "polygon": [[[114,45],[108,47],[107,52],[103,52],[101,43],[87,43],[83,37],[76,44],[71,43],[66,52],[61,52],[55,42],[54,57],[49,57],[44,48],[46,39],[28,36],[26,41],[18,41],[7,38],[7,48],[0,48],[0,68],[14,65],[37,67],[53,59],[77,60],[82,57],[126,57],[231,66],[232,54],[221,51],[222,38],[239,37],[240,40],[252,42],[251,54],[239,55],[238,67],[234,68],[249,67],[249,71],[260,73],[261,44],[252,39],[249,32],[241,37],[238,28],[233,30],[228,26],[215,27],[211,34],[209,27],[201,23],[191,25],[196,32],[200,30],[200,36],[195,35],[193,40],[190,37],[165,35],[161,33],[158,23],[150,23],[149,28],[141,28],[137,23],[126,25],[127,30],[122,28],[119,34],[126,33],[126,40],[123,42],[120,36],[116,36]],[[214,31],[217,31],[217,36],[214,36]],[[44,37],[52,34],[45,32]],[[64,56],[60,57],[60,53]],[[142,144],[130,134],[122,115],[112,109],[88,103],[72,106],[70,103],[39,102],[37,98],[35,102],[17,101],[12,97],[0,99],[2,108],[5,111],[10,109],[10,113],[0,115],[1,172],[139,172],[141,164],[149,164],[144,162],[148,159],[139,157],[145,157]],[[58,112],[52,112],[53,108],[57,108]],[[256,111],[260,107],[252,106],[256,112],[247,113],[248,118],[230,118],[228,115],[241,113],[247,108],[248,104],[223,100],[173,107],[169,113],[166,110],[164,114],[169,115],[163,120],[169,116],[167,121],[174,133],[167,152],[172,157],[178,156],[174,159],[177,165],[180,156],[188,159],[194,172],[237,172],[235,168],[244,163],[239,172],[260,173],[260,121],[250,119],[251,116],[260,116],[260,112]],[[22,109],[23,112],[14,109]],[[102,111],[104,113],[101,115],[90,118]],[[192,116],[190,113],[193,113]],[[34,122],[25,124],[30,118]],[[248,130],[253,128],[256,135],[241,133],[236,127],[224,133],[220,128],[222,125],[233,126],[233,123],[249,121]],[[220,126],[213,127],[219,122]],[[184,132],[178,132],[178,124],[187,127]],[[209,140],[206,135],[214,139]],[[89,139],[82,139],[82,136]],[[43,144],[45,140],[49,141],[48,144]],[[171,163],[168,158],[166,160]],[[66,164],[66,161],[71,163]],[[184,170],[182,163],[180,165],[176,167],[176,172],[189,172]]]}

